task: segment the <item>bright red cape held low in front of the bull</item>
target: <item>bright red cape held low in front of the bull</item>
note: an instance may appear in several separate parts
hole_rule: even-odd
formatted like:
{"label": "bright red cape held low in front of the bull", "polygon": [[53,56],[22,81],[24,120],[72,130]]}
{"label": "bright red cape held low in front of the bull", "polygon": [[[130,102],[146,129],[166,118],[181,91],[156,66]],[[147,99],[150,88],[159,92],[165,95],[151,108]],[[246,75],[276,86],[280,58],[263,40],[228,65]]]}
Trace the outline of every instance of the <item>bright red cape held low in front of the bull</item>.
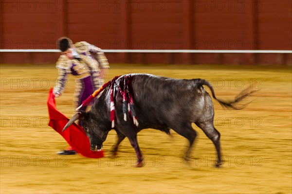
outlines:
{"label": "bright red cape held low in front of the bull", "polygon": [[68,123],[69,118],[57,110],[53,88],[50,89],[47,104],[50,116],[50,122],[48,125],[62,135],[62,137],[70,146],[73,147],[74,150],[88,158],[104,157],[103,150],[99,152],[91,151],[90,142],[84,129],[76,123],[73,123],[68,129],[62,132],[62,129]]}

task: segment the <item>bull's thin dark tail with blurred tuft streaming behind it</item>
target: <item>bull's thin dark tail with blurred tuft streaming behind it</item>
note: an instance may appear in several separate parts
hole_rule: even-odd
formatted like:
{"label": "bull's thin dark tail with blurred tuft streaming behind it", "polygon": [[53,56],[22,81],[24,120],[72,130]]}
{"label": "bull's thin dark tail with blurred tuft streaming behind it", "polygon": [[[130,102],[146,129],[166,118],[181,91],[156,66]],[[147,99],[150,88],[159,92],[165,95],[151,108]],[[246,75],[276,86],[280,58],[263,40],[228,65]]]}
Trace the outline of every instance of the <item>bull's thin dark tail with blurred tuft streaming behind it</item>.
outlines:
{"label": "bull's thin dark tail with blurred tuft streaming behind it", "polygon": [[212,85],[208,81],[202,80],[202,79],[198,79],[198,87],[200,88],[203,85],[206,85],[206,86],[208,86],[210,88],[210,90],[212,92],[212,97],[215,98],[223,108],[226,107],[226,108],[232,108],[232,109],[237,109],[237,110],[243,109],[249,103],[251,103],[251,102],[248,102],[248,103],[243,104],[241,106],[236,106],[237,102],[240,102],[245,97],[249,97],[253,93],[255,93],[256,91],[258,91],[258,90],[253,90],[253,89],[248,87],[248,88],[244,89],[242,92],[240,92],[240,94],[238,94],[237,97],[235,97],[235,99],[233,101],[225,101],[225,100],[218,99],[215,96],[214,89],[213,89]]}

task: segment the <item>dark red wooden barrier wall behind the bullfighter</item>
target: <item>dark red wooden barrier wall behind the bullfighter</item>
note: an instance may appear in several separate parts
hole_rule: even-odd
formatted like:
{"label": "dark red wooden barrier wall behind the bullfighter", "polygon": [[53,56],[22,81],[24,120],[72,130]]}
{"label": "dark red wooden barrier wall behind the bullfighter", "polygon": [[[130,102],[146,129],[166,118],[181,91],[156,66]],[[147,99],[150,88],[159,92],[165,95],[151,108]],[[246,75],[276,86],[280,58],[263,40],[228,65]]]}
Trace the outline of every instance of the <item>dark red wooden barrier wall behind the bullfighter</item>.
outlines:
{"label": "dark red wooden barrier wall behind the bullfighter", "polygon": [[[1,0],[0,49],[56,49],[68,36],[102,49],[292,50],[291,0]],[[0,53],[55,63],[58,53]],[[107,53],[110,63],[278,64],[291,54]]]}

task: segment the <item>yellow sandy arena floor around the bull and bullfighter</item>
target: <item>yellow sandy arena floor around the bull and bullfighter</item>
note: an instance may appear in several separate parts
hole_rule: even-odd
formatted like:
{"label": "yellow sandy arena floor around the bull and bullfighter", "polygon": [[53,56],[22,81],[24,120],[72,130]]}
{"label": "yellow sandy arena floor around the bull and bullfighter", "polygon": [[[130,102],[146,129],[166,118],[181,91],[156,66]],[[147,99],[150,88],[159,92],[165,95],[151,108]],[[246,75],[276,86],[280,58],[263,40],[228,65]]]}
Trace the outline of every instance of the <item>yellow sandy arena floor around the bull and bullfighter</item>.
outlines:
{"label": "yellow sandy arena floor around the bull and bullfighter", "polygon": [[[0,65],[0,193],[292,193],[291,67],[121,64],[111,65],[108,78],[126,73],[207,79],[222,99],[251,85],[261,90],[240,111],[223,110],[214,101],[222,168],[213,167],[215,148],[195,125],[199,137],[191,166],[181,158],[186,139],[145,129],[138,139],[146,166],[134,168],[135,152],[127,139],[116,159],[56,155],[68,145],[47,126],[46,100],[57,77],[55,65]],[[73,90],[70,76],[56,100],[68,117],[73,114]],[[114,141],[110,131],[106,154]]]}

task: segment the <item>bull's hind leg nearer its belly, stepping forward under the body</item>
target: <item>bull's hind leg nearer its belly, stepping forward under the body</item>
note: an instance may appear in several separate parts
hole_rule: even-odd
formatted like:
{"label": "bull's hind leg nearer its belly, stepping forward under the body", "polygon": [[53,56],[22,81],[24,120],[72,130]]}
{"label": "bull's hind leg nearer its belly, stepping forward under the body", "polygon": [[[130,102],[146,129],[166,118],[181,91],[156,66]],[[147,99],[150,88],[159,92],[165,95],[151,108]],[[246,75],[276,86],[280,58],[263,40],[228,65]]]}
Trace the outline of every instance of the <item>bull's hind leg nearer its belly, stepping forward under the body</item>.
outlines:
{"label": "bull's hind leg nearer its belly, stepping forward under the body", "polygon": [[197,137],[197,132],[192,128],[191,123],[181,123],[176,125],[175,127],[172,127],[172,129],[177,132],[178,134],[182,135],[189,141],[189,146],[186,149],[185,155],[183,159],[186,162],[190,161],[190,155],[192,151],[192,146],[195,142],[195,139]]}

